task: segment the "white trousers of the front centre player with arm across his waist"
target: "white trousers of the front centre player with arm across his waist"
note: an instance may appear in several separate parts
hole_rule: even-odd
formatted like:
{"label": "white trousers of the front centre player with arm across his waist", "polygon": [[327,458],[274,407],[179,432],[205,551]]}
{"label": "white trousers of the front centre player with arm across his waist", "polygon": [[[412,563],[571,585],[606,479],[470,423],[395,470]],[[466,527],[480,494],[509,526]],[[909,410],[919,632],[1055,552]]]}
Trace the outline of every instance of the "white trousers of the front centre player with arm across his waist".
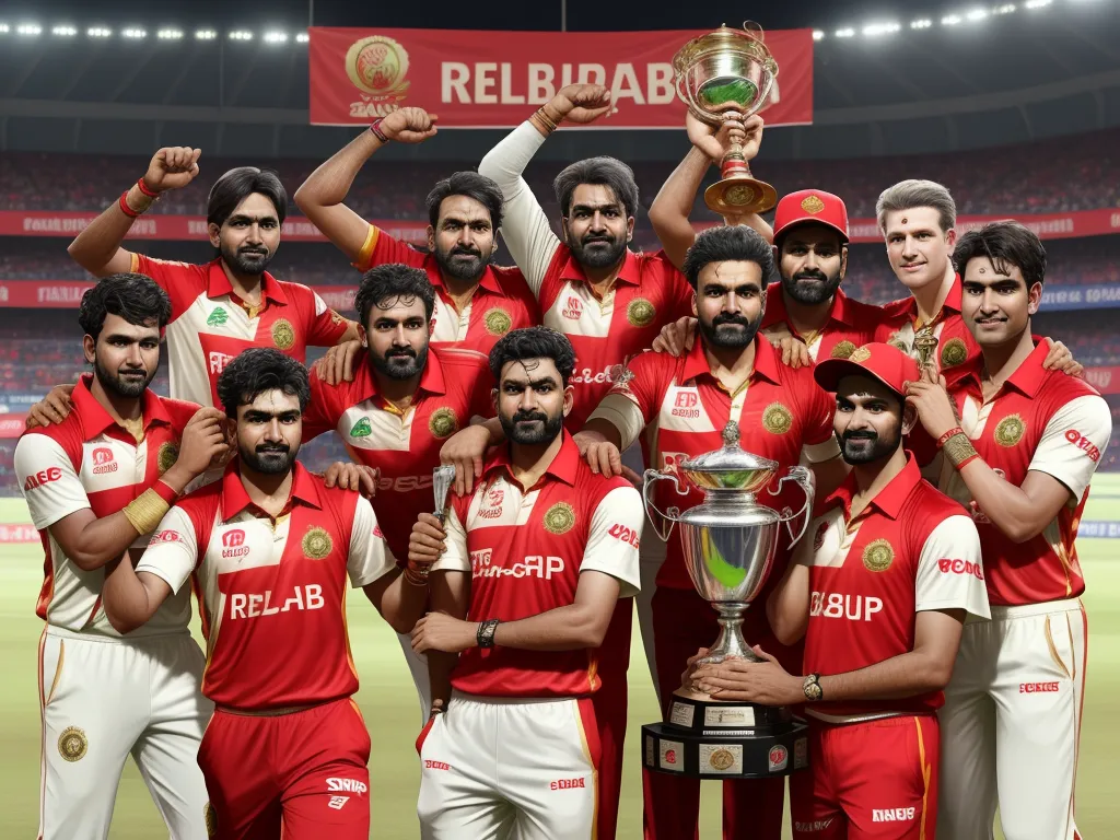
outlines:
{"label": "white trousers of the front centre player with arm across his waist", "polygon": [[598,737],[590,698],[452,692],[421,734],[422,840],[589,840]]}

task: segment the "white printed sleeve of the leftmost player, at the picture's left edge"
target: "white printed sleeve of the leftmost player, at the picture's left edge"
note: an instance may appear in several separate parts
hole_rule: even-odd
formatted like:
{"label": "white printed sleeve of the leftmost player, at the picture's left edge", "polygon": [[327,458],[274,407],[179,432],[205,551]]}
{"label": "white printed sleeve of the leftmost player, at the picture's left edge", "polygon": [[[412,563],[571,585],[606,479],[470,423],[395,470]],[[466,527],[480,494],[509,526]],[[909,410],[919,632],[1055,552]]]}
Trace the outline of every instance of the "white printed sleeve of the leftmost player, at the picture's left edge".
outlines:
{"label": "white printed sleeve of the leftmost player, at the picture's left edge", "polygon": [[40,531],[90,506],[73,461],[54,438],[25,435],[16,445],[15,467],[31,522]]}

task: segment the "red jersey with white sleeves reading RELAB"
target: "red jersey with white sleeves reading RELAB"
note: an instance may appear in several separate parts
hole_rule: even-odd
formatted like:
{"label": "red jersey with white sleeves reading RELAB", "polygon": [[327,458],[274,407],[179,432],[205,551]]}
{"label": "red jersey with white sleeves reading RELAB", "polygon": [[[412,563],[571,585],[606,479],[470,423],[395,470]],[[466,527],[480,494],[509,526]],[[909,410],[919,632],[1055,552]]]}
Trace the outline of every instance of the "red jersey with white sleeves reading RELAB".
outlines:
{"label": "red jersey with white sleeves reading RELAB", "polygon": [[168,511],[137,572],[176,594],[197,576],[203,693],[218,706],[263,710],[357,691],[346,576],[362,587],[393,566],[373,508],[357,493],[327,489],[296,464],[291,496],[273,522],[249,500],[235,461],[221,482]]}

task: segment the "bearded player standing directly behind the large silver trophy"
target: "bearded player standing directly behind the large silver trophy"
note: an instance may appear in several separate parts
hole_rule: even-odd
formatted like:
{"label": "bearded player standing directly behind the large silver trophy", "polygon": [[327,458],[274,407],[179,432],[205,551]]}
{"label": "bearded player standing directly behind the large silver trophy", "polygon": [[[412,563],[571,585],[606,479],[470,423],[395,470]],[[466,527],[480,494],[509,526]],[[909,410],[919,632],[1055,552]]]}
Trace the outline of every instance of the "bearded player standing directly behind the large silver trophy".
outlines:
{"label": "bearded player standing directly behind the large silver trophy", "polygon": [[[769,243],[747,226],[713,227],[697,236],[684,270],[697,289],[701,340],[680,358],[644,353],[631,362],[577,435],[594,472],[617,475],[619,450],[638,439],[647,464],[675,470],[691,457],[719,449],[724,427],[736,420],[747,451],[783,469],[810,466],[822,493],[840,484],[846,467],[832,435],[833,401],[813,381],[811,368],[782,364],[769,342],[757,335],[765,317],[766,278],[773,268]],[[702,494],[659,491],[655,501],[661,510],[687,510],[699,504]],[[764,493],[759,501],[778,510],[790,505],[796,511],[804,505],[800,492],[776,497]],[[655,680],[668,715],[669,698],[680,684],[687,660],[716,638],[719,626],[716,613],[689,578],[680,533],[662,545],[666,557],[651,606]],[[787,548],[783,542],[777,549],[771,589],[785,568]],[[747,614],[744,633],[775,648],[788,666],[800,664],[800,648],[772,643],[763,610]],[[655,773],[644,773],[644,780],[645,836],[651,840],[692,837],[699,780]],[[781,777],[726,782],[725,837],[780,837],[783,799]]]}

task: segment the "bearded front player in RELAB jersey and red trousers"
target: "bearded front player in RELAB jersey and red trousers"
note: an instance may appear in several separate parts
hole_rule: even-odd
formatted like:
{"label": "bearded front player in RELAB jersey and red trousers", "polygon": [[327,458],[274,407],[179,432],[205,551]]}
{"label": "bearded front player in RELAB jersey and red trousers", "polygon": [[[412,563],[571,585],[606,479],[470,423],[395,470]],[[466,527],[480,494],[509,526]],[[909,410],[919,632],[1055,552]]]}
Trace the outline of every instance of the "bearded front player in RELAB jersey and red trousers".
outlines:
{"label": "bearded front player in RELAB jersey and red trousers", "polygon": [[192,576],[207,626],[203,693],[215,704],[198,748],[218,840],[366,840],[370,735],[351,699],[346,577],[398,629],[427,599],[426,571],[401,573],[370,503],[296,463],[307,371],[254,348],[218,382],[237,458],[175,505],[133,570],[105,582],[121,629],[146,626]]}

